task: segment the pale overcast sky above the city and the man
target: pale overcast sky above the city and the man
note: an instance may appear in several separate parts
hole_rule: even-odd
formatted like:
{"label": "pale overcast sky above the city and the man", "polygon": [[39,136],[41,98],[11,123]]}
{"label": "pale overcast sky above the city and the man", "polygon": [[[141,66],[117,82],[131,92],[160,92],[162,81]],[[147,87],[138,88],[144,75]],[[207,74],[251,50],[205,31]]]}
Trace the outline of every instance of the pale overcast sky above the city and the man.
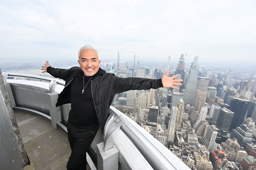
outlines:
{"label": "pale overcast sky above the city and the man", "polygon": [[[0,60],[117,58],[256,64],[256,1],[0,2]],[[136,60],[137,60],[136,59]]]}

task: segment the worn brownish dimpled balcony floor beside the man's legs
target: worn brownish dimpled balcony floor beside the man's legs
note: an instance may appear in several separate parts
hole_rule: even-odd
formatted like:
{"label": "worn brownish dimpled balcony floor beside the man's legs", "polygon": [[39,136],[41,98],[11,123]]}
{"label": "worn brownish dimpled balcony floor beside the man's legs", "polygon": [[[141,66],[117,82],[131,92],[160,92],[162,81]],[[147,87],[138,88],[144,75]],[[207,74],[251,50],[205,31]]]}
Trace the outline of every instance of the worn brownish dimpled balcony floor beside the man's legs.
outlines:
{"label": "worn brownish dimpled balcony floor beside the man's legs", "polygon": [[[66,170],[71,149],[67,133],[46,118],[14,111],[23,145],[31,162],[25,170]],[[87,164],[87,170],[91,168]]]}

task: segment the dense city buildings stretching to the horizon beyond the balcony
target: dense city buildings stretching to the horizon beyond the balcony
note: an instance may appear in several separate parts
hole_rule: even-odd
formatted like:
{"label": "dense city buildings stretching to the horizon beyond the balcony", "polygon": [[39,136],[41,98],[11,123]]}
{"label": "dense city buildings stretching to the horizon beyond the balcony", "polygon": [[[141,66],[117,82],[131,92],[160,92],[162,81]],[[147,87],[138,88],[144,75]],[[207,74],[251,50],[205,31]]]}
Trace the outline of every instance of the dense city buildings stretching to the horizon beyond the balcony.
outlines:
{"label": "dense city buildings stretching to the horizon beyond the balcony", "polygon": [[[102,63],[102,69],[107,74],[114,73],[120,78],[128,78],[133,77],[134,73],[134,77],[158,79],[168,68],[167,60],[165,64],[152,63],[148,66],[137,61],[120,62],[118,67],[118,54],[115,62]],[[246,166],[242,162],[250,154],[246,147],[254,143],[256,148],[255,140],[252,139],[256,135],[255,78],[242,81],[238,76],[240,70],[229,67],[200,68],[199,61],[200,57],[195,57],[189,70],[184,69],[183,59],[170,68],[169,76],[177,73],[177,70],[179,74],[184,73],[186,83],[183,88],[180,86],[180,90],[163,87],[130,90],[116,94],[111,105],[139,124],[140,128],[171,150],[191,169],[217,170],[224,162],[228,166],[235,164],[242,169],[241,166]],[[19,65],[10,62],[5,68],[33,67],[36,63],[30,65],[23,62]],[[72,63],[53,62],[52,66],[70,68]],[[17,70],[13,72],[20,73]],[[240,74],[244,73],[246,70]],[[41,76],[52,77],[48,73]],[[10,79],[16,78],[10,76]],[[18,79],[20,77],[16,81],[20,81]],[[25,80],[32,79],[22,78],[22,81]],[[186,105],[186,101],[190,105]],[[242,103],[243,107],[240,107],[237,101],[246,104]],[[250,112],[245,114],[247,109]],[[233,118],[235,115],[238,115],[237,118]],[[234,119],[237,120],[236,125]],[[246,131],[246,135],[243,131]],[[241,135],[242,138],[238,138]],[[218,163],[220,161],[222,164]]]}

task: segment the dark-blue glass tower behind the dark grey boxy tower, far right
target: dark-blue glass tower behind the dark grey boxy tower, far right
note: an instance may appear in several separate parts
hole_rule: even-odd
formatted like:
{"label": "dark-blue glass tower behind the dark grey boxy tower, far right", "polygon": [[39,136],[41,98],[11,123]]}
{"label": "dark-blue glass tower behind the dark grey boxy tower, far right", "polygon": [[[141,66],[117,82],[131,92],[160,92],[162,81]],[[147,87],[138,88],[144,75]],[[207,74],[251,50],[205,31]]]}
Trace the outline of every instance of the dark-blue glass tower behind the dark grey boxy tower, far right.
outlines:
{"label": "dark-blue glass tower behind the dark grey boxy tower, far right", "polygon": [[232,131],[236,127],[240,126],[245,118],[247,113],[247,108],[250,101],[233,98],[230,102],[229,109],[234,112],[234,117],[230,125],[229,131]]}

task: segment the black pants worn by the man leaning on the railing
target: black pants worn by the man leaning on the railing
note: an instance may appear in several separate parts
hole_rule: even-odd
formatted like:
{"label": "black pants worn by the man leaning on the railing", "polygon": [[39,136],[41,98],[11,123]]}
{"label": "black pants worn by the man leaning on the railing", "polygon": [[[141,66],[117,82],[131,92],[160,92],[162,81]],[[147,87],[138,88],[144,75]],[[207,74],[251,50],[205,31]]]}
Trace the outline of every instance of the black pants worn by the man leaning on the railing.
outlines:
{"label": "black pants worn by the man leaning on the railing", "polygon": [[71,155],[67,163],[67,170],[86,170],[86,152],[91,145],[99,127],[80,129],[67,123],[68,141]]}

